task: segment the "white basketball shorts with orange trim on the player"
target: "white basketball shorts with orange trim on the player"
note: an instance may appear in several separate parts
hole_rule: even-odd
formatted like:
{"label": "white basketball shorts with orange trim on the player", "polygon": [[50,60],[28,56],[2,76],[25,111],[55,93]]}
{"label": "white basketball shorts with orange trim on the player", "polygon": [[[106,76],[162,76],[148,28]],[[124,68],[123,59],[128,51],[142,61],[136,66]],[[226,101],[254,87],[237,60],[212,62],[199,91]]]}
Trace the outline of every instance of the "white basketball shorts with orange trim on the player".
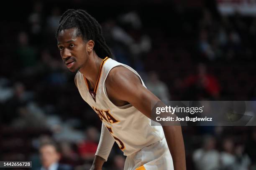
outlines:
{"label": "white basketball shorts with orange trim on the player", "polygon": [[127,156],[124,170],[174,170],[166,139]]}

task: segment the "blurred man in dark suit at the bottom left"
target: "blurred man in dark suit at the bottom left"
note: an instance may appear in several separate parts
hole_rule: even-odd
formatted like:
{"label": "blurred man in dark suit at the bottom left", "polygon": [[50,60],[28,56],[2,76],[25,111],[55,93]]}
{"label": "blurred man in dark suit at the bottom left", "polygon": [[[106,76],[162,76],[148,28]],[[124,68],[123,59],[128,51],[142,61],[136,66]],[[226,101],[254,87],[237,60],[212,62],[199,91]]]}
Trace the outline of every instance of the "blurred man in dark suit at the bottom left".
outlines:
{"label": "blurred man in dark suit at the bottom left", "polygon": [[43,143],[39,149],[42,168],[40,170],[73,170],[69,165],[60,164],[61,155],[54,143]]}

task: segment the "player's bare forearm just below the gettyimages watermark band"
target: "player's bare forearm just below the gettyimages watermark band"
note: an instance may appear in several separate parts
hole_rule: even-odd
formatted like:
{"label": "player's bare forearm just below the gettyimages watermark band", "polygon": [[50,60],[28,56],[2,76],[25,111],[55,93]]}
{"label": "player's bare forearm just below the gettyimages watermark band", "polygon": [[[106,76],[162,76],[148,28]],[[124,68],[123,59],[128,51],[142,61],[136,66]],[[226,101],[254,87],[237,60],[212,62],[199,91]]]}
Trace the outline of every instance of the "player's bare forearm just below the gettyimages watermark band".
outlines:
{"label": "player's bare forearm just below the gettyimages watermark band", "polygon": [[180,126],[163,126],[164,135],[172,155],[174,170],[186,170],[185,148]]}

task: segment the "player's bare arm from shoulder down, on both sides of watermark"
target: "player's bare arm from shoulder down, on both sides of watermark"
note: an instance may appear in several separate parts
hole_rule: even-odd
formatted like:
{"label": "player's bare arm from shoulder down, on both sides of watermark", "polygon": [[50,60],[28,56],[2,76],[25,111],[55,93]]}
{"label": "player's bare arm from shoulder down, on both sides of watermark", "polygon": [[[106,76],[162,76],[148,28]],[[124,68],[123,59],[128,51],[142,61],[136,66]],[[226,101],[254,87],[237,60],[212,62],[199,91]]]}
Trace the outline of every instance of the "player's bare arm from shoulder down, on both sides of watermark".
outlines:
{"label": "player's bare arm from shoulder down, on both sides of watermark", "polygon": [[[160,101],[147,90],[139,78],[125,67],[113,68],[106,80],[108,96],[127,101],[147,117],[151,118],[151,102]],[[163,126],[164,135],[172,154],[175,170],[186,170],[185,150],[180,126]]]}

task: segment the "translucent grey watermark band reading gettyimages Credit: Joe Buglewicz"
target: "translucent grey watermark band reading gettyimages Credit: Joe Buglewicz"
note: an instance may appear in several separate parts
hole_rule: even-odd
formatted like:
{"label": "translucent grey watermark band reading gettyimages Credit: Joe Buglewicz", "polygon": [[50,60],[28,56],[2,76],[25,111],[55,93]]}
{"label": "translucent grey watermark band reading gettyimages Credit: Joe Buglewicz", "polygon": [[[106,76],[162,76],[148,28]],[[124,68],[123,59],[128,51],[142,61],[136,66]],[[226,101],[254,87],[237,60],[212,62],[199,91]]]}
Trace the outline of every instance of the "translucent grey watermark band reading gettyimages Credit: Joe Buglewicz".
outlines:
{"label": "translucent grey watermark band reading gettyimages Credit: Joe Buglewicz", "polygon": [[151,103],[151,125],[255,126],[256,101],[166,101]]}

